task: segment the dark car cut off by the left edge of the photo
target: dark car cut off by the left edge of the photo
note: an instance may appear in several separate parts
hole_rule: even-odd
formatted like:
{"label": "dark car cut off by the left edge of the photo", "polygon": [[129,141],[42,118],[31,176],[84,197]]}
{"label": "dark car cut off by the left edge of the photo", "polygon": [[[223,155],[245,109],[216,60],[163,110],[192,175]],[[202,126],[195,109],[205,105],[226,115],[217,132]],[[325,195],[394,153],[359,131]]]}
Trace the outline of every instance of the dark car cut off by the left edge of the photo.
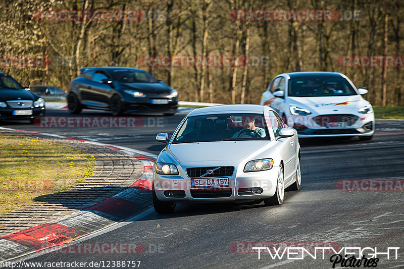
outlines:
{"label": "dark car cut off by the left edge of the photo", "polygon": [[0,120],[30,120],[45,115],[45,101],[0,72]]}

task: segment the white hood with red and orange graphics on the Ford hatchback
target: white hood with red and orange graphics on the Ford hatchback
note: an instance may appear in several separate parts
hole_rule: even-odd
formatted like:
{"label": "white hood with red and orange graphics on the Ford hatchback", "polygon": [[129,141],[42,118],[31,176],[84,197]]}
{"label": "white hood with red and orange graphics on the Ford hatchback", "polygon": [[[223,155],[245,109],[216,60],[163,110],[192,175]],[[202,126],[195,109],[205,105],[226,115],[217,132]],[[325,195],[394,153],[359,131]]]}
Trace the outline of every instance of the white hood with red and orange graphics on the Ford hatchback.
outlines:
{"label": "white hood with red and orange graphics on the Ford hatchback", "polygon": [[360,109],[369,102],[361,95],[349,96],[318,96],[318,97],[287,97],[290,105],[302,106],[309,110],[345,110]]}

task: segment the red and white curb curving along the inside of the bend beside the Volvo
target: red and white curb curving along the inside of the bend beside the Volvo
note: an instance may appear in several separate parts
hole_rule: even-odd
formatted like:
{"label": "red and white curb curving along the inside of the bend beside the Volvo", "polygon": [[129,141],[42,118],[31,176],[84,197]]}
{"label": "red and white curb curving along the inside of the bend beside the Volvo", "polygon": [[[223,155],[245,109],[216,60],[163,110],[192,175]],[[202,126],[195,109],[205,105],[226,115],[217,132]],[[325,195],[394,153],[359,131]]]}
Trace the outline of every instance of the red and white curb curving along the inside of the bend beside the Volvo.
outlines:
{"label": "red and white curb curving along the inside of the bend beside the Volvo", "polygon": [[156,154],[113,144],[87,141],[55,134],[5,127],[0,127],[0,130],[1,129],[79,140],[84,143],[122,150],[140,160],[143,165],[143,173],[132,186],[103,202],[92,205],[78,213],[73,213],[59,220],[0,237],[0,261],[4,262],[30,253],[39,252],[45,248],[62,245],[124,220],[130,220],[130,218],[138,213],[139,200],[150,197],[153,182],[153,165],[157,157]]}

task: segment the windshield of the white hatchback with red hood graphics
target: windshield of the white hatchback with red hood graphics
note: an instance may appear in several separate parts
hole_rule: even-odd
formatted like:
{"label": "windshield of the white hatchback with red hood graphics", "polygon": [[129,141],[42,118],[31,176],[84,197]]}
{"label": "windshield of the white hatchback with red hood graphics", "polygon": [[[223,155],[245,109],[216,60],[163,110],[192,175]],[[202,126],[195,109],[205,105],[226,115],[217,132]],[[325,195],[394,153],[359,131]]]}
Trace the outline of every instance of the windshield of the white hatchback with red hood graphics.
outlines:
{"label": "windshield of the white hatchback with red hood graphics", "polygon": [[306,76],[289,80],[288,96],[344,96],[356,94],[354,88],[344,78]]}

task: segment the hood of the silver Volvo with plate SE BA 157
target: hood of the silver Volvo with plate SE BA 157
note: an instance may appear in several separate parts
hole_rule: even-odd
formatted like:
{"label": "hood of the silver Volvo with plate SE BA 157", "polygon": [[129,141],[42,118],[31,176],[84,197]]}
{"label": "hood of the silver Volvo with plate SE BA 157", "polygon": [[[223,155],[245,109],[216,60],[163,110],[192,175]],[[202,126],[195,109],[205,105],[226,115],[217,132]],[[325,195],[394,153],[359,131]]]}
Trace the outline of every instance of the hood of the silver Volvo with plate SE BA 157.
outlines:
{"label": "hood of the silver Volvo with plate SE BA 157", "polygon": [[168,149],[180,163],[242,160],[252,153],[268,149],[266,145],[270,142],[264,140],[182,143],[170,144]]}

